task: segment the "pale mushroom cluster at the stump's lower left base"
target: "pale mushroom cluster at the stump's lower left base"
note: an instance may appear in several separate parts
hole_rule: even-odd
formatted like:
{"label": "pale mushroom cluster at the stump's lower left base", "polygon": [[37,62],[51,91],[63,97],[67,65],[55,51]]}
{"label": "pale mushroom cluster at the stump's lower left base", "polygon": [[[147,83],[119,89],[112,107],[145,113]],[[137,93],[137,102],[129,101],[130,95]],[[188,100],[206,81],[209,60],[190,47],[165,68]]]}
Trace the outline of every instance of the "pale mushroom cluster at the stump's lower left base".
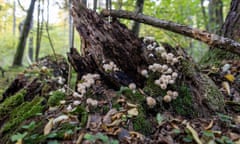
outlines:
{"label": "pale mushroom cluster at the stump's lower left base", "polygon": [[77,91],[80,93],[74,93],[74,97],[83,97],[83,95],[87,92],[87,89],[90,88],[94,83],[95,80],[99,79],[99,74],[86,74],[82,76],[81,82],[77,84]]}

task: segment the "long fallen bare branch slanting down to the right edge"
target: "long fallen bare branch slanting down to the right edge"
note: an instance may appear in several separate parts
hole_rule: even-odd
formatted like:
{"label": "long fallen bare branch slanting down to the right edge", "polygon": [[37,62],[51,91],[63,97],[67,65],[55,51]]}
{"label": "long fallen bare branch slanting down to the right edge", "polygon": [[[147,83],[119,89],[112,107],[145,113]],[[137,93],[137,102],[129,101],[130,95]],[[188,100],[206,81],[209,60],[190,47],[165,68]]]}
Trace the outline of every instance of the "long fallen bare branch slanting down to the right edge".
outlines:
{"label": "long fallen bare branch slanting down to the right edge", "polygon": [[158,28],[162,28],[171,32],[175,32],[175,33],[202,41],[208,44],[210,47],[216,47],[216,48],[227,50],[232,53],[240,55],[240,43],[232,39],[221,37],[216,34],[211,34],[196,28],[191,28],[189,26],[177,24],[171,21],[160,20],[151,16],[146,16],[143,14],[122,11],[122,10],[117,10],[117,11],[103,10],[102,15],[118,17],[118,18],[126,18],[130,20],[135,20],[137,22],[149,24]]}

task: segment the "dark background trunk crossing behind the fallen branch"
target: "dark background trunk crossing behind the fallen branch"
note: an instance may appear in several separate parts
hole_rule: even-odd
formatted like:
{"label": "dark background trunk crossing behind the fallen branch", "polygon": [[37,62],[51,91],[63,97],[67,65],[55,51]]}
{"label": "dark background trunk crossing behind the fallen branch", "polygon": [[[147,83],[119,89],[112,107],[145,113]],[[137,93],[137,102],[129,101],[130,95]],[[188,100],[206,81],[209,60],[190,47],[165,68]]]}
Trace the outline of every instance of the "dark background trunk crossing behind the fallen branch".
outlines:
{"label": "dark background trunk crossing behind the fallen branch", "polygon": [[[143,12],[143,6],[144,6],[144,0],[137,0],[135,12],[136,13],[142,13]],[[135,33],[136,36],[139,35],[139,30],[140,30],[140,23],[134,21],[132,31]]]}

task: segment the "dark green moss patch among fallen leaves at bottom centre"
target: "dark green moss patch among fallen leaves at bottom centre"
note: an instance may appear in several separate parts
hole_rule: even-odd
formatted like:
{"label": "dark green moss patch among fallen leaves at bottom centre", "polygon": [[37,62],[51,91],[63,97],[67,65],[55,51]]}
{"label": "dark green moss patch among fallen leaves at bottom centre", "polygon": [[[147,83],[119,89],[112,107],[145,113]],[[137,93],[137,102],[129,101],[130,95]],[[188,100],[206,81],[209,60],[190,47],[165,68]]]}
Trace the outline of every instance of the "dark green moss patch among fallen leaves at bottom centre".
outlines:
{"label": "dark green moss patch among fallen leaves at bottom centre", "polygon": [[138,108],[138,111],[138,116],[132,119],[133,129],[144,135],[149,135],[152,131],[151,122],[145,116],[144,109],[141,106]]}

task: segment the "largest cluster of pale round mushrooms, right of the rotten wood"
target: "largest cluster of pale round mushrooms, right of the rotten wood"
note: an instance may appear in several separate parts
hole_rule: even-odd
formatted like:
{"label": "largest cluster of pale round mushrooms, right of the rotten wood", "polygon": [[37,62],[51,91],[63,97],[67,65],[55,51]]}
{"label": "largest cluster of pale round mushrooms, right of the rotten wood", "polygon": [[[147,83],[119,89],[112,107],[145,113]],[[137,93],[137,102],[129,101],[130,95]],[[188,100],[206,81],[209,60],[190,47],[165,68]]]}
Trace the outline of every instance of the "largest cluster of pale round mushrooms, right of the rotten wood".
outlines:
{"label": "largest cluster of pale round mushrooms, right of the rotten wood", "polygon": [[[171,52],[167,52],[167,50],[161,45],[158,44],[154,38],[146,37],[143,39],[144,44],[146,45],[146,49],[150,51],[150,54],[153,54],[161,59],[161,63],[153,63],[148,66],[148,69],[142,69],[141,75],[148,78],[149,73],[160,73],[159,78],[155,79],[154,84],[159,86],[163,90],[168,90],[169,84],[175,84],[176,79],[178,78],[178,72],[174,69],[174,65],[179,63],[179,57],[175,56]],[[167,95],[163,97],[164,102],[171,102],[176,99],[178,96],[177,91],[167,91]],[[149,107],[152,107],[155,104],[155,99],[152,97],[148,97],[146,99]]]}

